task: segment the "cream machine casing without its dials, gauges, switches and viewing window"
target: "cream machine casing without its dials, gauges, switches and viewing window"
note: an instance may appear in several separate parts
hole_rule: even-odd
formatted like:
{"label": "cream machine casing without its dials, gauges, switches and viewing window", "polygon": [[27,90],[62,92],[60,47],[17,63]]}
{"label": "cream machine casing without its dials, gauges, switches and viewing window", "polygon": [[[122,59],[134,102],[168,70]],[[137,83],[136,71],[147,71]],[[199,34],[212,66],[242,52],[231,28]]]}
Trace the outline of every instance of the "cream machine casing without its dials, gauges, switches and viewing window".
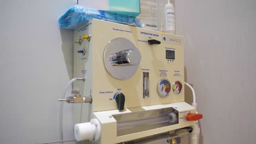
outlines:
{"label": "cream machine casing without its dials, gauges, switches and viewing window", "polygon": [[[74,104],[74,122],[89,122],[97,118],[101,122],[99,143],[119,143],[140,137],[164,133],[173,129],[194,125],[186,121],[189,112],[196,109],[184,103],[184,88],[179,94],[173,92],[173,83],[179,81],[184,86],[184,46],[183,37],[118,23],[91,20],[74,31],[74,40],[83,35],[91,35],[82,44],[74,44],[74,77],[86,77],[85,82],[77,81],[74,89],[82,96],[92,96],[92,104]],[[110,75],[104,66],[103,55],[107,44],[115,38],[130,40],[141,53],[141,62],[130,79],[119,80]],[[148,40],[161,44],[148,44]],[[122,45],[119,45],[120,47]],[[79,50],[85,53],[78,53]],[[174,51],[174,59],[166,58],[166,50]],[[119,66],[113,66],[119,67]],[[125,67],[125,66],[124,66]],[[143,72],[149,74],[149,97],[143,98]],[[170,95],[163,98],[158,94],[158,84],[162,79],[171,83]],[[125,110],[117,110],[114,99],[116,93],[125,95]],[[112,115],[148,111],[173,107],[179,111],[179,123],[129,135],[117,134],[117,121]]]}

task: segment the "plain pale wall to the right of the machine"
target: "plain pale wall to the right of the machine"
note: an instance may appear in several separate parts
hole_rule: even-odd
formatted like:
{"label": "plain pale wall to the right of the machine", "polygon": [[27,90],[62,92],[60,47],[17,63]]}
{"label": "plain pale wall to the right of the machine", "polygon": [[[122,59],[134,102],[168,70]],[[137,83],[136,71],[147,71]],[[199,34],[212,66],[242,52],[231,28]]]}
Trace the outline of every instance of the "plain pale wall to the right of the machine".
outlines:
{"label": "plain pale wall to the right of the machine", "polygon": [[203,113],[201,143],[255,143],[256,1],[178,0],[176,25]]}

